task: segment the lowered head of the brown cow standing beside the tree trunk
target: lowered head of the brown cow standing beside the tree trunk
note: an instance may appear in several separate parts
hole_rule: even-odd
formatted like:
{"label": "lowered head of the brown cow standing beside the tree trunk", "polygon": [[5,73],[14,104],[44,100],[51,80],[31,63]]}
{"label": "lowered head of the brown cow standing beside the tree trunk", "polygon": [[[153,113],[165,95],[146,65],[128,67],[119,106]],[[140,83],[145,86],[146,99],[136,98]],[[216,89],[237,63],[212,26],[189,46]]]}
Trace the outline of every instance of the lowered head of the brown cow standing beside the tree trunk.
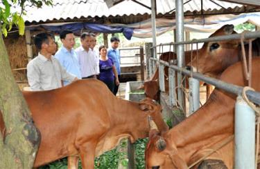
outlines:
{"label": "lowered head of the brown cow standing beside the tree trunk", "polygon": [[[166,131],[168,130],[168,126],[164,122],[162,118],[162,107],[155,103],[153,99],[146,98],[139,103],[139,108],[150,115],[152,119],[155,121],[156,125],[158,126],[159,131]],[[148,133],[148,132],[147,132]]]}

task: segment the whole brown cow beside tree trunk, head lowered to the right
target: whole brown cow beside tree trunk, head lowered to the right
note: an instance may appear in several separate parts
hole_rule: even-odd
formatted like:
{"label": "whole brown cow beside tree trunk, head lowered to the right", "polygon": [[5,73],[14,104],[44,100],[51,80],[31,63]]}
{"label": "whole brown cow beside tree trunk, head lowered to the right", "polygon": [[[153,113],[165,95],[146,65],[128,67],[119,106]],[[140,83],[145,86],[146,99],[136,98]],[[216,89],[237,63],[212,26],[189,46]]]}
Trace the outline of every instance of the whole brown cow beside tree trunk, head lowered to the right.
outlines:
{"label": "whole brown cow beside tree trunk, head lowered to the right", "polygon": [[80,155],[83,168],[94,168],[94,157],[114,148],[123,137],[131,142],[148,137],[148,115],[159,130],[168,129],[161,106],[151,99],[140,103],[119,99],[95,79],[23,94],[42,137],[34,167]]}

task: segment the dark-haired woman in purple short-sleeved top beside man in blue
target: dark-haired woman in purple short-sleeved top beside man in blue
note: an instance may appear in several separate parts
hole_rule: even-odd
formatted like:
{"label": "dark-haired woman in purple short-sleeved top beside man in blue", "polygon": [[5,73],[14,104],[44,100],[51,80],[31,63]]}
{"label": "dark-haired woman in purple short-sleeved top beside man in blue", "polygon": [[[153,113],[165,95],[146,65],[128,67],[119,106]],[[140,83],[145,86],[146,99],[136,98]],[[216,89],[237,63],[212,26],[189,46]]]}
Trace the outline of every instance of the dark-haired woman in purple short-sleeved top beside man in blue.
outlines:
{"label": "dark-haired woman in purple short-sleeved top beside man in blue", "polygon": [[[99,54],[101,55],[99,59],[99,79],[113,92],[115,83],[119,85],[116,66],[114,66],[112,59],[107,57],[107,48],[105,48],[105,46],[99,47]],[[115,78],[116,80],[114,81]]]}

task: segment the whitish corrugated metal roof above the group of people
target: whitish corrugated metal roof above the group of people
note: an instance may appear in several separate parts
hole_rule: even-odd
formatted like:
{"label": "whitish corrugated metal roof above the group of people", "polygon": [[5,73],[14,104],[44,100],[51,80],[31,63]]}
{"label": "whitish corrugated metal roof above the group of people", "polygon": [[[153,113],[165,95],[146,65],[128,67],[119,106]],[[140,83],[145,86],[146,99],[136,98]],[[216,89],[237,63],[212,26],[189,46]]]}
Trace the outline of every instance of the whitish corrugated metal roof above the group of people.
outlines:
{"label": "whitish corrugated metal roof above the group of people", "polygon": [[[150,6],[150,0],[140,0],[146,6]],[[187,3],[186,3],[187,2]],[[214,3],[215,2],[215,3]],[[244,12],[245,8],[242,5],[236,3],[228,3],[224,1],[210,1],[203,0],[204,14],[211,12],[228,12],[236,10],[238,12]],[[197,0],[184,0],[184,11],[187,14],[200,14],[201,5]],[[224,7],[224,8],[222,8]],[[175,1],[172,0],[157,0],[157,14],[158,17],[168,12],[175,12]],[[250,9],[249,7],[246,10]],[[129,21],[129,17],[132,16],[144,16],[143,19],[147,19],[150,14],[150,10],[144,6],[140,6],[134,1],[123,1],[112,8],[108,8],[103,0],[53,0],[53,6],[42,6],[42,8],[35,8],[32,6],[26,6],[26,16],[24,20],[26,23],[44,23],[64,20],[88,19],[88,18],[107,18],[118,19],[118,23],[132,23],[139,19],[133,19]],[[168,16],[174,14],[168,13]],[[123,21],[125,20],[125,21]],[[111,20],[110,20],[111,21]]]}

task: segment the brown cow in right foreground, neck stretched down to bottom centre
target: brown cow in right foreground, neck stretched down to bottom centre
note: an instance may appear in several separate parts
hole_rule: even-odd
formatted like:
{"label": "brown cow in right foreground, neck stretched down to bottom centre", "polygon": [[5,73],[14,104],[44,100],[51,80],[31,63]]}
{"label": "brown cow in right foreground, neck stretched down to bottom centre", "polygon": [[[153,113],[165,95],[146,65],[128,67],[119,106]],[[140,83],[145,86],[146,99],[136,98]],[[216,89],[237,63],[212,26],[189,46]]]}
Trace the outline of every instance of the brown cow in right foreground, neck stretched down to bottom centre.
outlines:
{"label": "brown cow in right foreground, neck stretched down to bottom centre", "polygon": [[[230,66],[220,79],[227,83],[245,86],[241,62]],[[252,88],[260,91],[260,58],[252,61]],[[146,168],[187,168],[203,157],[223,140],[234,135],[234,103],[236,96],[215,89],[209,100],[193,115],[177,126],[159,135],[150,131],[146,148]],[[233,168],[234,142],[227,143],[207,159],[218,159],[227,168]],[[225,168],[225,166],[223,168]]]}

